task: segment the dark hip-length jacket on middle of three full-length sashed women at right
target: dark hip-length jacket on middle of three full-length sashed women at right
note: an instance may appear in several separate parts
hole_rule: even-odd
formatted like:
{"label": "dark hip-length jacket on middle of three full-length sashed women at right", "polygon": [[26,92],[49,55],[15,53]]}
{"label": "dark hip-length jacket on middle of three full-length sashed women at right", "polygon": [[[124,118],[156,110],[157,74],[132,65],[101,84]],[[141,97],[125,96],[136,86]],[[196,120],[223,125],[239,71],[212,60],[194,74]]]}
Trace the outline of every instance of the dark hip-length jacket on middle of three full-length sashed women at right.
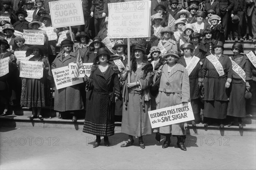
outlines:
{"label": "dark hip-length jacket on middle of three full-length sashed women at right", "polygon": [[227,78],[232,78],[232,63],[229,57],[221,54],[219,58],[224,76],[219,77],[213,64],[206,58],[202,68],[204,78],[204,100],[228,101],[228,90],[225,88]]}

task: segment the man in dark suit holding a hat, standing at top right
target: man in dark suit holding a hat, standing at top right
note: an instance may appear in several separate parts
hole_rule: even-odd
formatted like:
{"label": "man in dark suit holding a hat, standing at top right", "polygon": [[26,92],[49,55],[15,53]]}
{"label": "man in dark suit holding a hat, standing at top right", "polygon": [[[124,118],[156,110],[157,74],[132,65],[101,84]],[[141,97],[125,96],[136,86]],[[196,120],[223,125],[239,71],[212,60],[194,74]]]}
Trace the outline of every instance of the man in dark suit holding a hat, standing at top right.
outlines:
{"label": "man in dark suit holding a hat, standing at top right", "polygon": [[246,27],[243,26],[245,21],[244,14],[246,12],[246,2],[245,0],[233,0],[233,2],[234,8],[231,11],[231,18],[233,18],[235,14],[238,15],[240,18],[239,23],[233,23],[233,35],[235,37],[235,41],[243,41],[244,39],[242,37],[244,34],[244,30],[246,31]]}

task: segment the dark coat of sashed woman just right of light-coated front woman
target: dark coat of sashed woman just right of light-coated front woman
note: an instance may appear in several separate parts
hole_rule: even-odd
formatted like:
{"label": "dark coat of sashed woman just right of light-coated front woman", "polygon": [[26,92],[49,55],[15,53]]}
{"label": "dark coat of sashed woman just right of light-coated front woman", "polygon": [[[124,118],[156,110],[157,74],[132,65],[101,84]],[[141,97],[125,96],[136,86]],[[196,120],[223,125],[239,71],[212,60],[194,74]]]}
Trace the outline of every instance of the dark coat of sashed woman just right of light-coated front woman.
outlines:
{"label": "dark coat of sashed woman just right of light-coated front woman", "polygon": [[[181,57],[178,63],[183,65],[185,68],[187,66],[184,57]],[[197,63],[197,65],[189,75],[190,99],[200,98],[200,87],[198,85],[198,81],[202,82],[202,68],[200,65],[200,61]]]}

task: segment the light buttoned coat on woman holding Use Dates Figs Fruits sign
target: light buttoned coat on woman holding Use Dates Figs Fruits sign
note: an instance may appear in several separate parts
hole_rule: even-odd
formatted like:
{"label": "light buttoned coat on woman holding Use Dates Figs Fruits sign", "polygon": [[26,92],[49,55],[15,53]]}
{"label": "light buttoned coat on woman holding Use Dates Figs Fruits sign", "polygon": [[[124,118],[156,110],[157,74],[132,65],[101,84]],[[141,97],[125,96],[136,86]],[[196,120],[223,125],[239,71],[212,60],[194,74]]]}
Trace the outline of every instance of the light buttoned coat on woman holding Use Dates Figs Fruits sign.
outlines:
{"label": "light buttoned coat on woman holding Use Dates Figs Fruits sign", "polygon": [[[156,75],[154,76],[154,85],[159,84],[159,94],[156,98],[157,109],[179,105],[182,102],[190,102],[189,76],[186,68],[177,63],[173,66],[171,73],[172,74],[168,74],[168,65],[163,65],[161,77],[156,79]],[[183,123],[178,123],[163,126],[159,129],[160,133],[186,135],[186,130],[184,130],[183,126]]]}

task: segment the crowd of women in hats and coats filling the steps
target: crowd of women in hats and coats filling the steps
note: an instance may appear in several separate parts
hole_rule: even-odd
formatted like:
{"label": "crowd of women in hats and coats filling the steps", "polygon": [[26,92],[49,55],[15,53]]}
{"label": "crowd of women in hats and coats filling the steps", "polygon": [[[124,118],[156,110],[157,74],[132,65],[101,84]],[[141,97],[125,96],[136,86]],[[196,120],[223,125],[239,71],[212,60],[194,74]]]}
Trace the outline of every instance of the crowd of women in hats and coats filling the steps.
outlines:
{"label": "crowd of women in hats and coats filling the steps", "polygon": [[[8,2],[4,7],[10,7]],[[35,2],[40,9],[43,1]],[[172,3],[175,6],[175,0]],[[79,44],[75,48],[70,38],[62,40],[57,55],[52,53],[55,50],[50,50],[56,42],[49,42],[47,38],[45,45],[27,46],[22,36],[14,35],[15,26],[27,29],[26,11],[17,10],[20,23],[5,23],[1,32],[0,60],[9,57],[9,73],[0,77],[1,116],[8,115],[10,107],[20,105],[32,108],[29,119],[43,120],[41,109],[49,104],[49,90],[55,87],[51,69],[76,63],[81,56],[83,63],[93,63],[91,74],[83,78],[83,83],[55,88],[54,110],[61,113],[62,119],[71,116],[73,122],[80,114],[85,115],[83,132],[96,136],[93,147],[100,145],[101,136],[105,146],[110,145],[108,136],[114,134],[119,115],[122,116],[121,132],[128,135],[121,147],[133,145],[134,137],[139,137],[139,145],[144,149],[143,136],[155,133],[158,142],[161,135],[166,137],[163,148],[170,146],[172,135],[177,137],[177,146],[186,150],[187,123],[152,129],[148,111],[178,104],[187,106],[189,102],[195,120],[188,123],[193,127],[203,122],[205,127],[217,123],[220,128],[225,124],[243,128],[242,118],[253,112],[250,109],[256,105],[256,68],[244,54],[243,44],[235,42],[233,55],[228,57],[223,54],[225,38],[219,29],[221,17],[208,11],[209,19],[205,20],[204,12],[196,11],[195,23],[189,23],[190,13],[182,9],[177,12],[174,26],[162,27],[161,23],[166,23],[162,22],[163,9],[163,5],[154,8],[158,13],[152,16],[151,37],[131,40],[130,63],[126,40],[113,40],[115,44],[111,49],[102,41],[108,22],[93,40],[87,32],[76,34]],[[46,11],[39,11],[40,20],[45,22],[34,20],[28,23],[29,28],[38,29],[50,23],[50,17],[44,14]],[[255,55],[256,40],[253,43]],[[31,57],[29,61],[43,62],[43,77],[20,78],[20,61],[14,51],[26,51],[26,56]],[[115,65],[118,61],[123,67]],[[240,72],[234,68],[241,68]]]}

